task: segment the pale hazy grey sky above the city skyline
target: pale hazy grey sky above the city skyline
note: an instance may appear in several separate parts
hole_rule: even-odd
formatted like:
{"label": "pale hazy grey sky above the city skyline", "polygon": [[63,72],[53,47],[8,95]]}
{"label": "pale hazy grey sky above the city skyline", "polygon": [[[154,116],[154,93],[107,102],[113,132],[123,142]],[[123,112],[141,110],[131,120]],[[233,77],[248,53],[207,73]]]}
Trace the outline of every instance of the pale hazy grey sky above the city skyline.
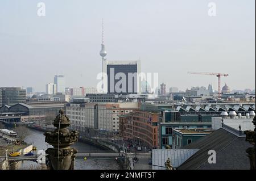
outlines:
{"label": "pale hazy grey sky above the city skyline", "polygon": [[67,87],[96,87],[102,18],[108,60],[141,58],[142,71],[181,90],[217,90],[216,77],[187,71],[228,73],[222,86],[255,89],[255,0],[1,0],[0,87],[45,91],[55,74]]}

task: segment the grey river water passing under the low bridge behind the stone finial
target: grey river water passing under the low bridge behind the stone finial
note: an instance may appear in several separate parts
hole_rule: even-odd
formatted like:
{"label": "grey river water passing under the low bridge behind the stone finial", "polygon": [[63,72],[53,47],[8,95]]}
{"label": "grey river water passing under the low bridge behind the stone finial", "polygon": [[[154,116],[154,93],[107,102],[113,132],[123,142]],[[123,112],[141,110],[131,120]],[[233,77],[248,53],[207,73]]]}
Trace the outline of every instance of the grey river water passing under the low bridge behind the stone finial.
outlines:
{"label": "grey river water passing under the low bridge behind the stone finial", "polygon": [[[7,128],[11,129],[11,128]],[[28,144],[33,144],[36,146],[37,150],[46,150],[50,148],[51,145],[47,145],[44,141],[45,136],[43,132],[27,128],[27,136],[24,139]],[[84,142],[76,142],[72,145],[76,148],[79,153],[100,153],[109,152],[108,150],[103,150],[97,148],[96,146],[85,144]],[[16,169],[34,169],[38,168],[40,165],[32,161],[21,161]],[[121,166],[114,159],[75,159],[75,170],[119,170]]]}

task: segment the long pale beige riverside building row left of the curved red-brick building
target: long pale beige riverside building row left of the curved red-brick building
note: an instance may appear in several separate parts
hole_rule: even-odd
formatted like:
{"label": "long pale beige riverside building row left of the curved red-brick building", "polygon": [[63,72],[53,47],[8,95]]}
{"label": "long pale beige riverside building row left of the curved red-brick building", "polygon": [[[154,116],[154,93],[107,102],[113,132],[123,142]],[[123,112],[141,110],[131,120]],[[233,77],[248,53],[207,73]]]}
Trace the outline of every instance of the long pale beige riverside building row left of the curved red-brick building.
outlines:
{"label": "long pale beige riverside building row left of the curved red-brick building", "polygon": [[138,109],[138,103],[68,103],[65,111],[71,129],[80,132],[97,130],[101,134],[119,132],[119,116]]}

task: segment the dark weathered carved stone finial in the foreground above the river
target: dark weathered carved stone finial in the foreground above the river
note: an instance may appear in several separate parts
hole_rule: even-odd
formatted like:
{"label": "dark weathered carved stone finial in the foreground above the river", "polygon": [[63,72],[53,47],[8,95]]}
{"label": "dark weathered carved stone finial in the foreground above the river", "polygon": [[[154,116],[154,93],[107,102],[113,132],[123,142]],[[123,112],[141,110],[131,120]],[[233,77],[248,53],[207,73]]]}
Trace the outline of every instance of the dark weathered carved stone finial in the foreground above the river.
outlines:
{"label": "dark weathered carved stone finial in the foreground above the river", "polygon": [[79,133],[77,131],[69,131],[67,129],[69,124],[68,116],[64,115],[63,110],[60,110],[59,115],[56,116],[53,122],[54,127],[56,127],[55,131],[44,133],[46,142],[53,146],[53,148],[46,150],[50,170],[74,169],[77,150],[70,146],[78,140]]}

